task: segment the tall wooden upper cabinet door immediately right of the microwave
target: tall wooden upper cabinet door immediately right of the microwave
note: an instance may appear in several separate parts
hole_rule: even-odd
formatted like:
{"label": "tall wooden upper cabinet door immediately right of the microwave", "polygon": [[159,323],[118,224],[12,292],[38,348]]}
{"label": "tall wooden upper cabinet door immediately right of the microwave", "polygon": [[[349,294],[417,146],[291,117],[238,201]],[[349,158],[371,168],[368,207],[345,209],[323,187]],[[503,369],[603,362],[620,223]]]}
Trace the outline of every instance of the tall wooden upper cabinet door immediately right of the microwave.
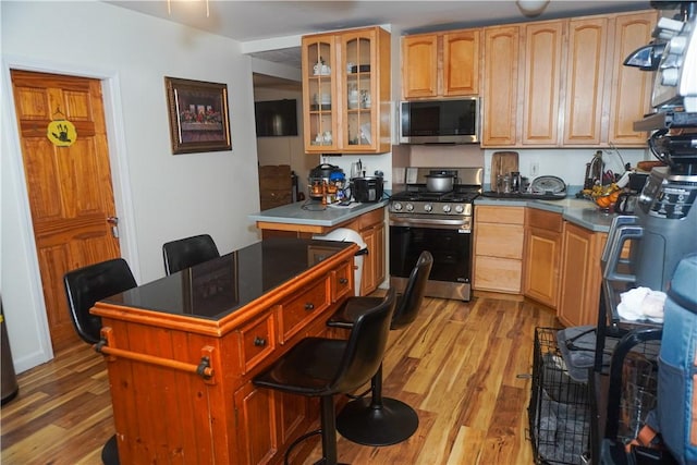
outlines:
{"label": "tall wooden upper cabinet door immediately right of the microwave", "polygon": [[484,30],[482,146],[516,144],[519,27]]}

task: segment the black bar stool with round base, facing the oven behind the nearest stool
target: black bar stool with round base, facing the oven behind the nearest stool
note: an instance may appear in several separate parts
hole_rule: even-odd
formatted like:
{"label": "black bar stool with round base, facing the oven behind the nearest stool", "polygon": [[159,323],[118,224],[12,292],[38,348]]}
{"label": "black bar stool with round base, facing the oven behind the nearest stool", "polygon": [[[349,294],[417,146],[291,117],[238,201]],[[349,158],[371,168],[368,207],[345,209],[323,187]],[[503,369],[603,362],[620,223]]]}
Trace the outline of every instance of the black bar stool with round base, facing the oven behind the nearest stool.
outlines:
{"label": "black bar stool with round base, facing the oven behind the nearest stool", "polygon": [[[390,329],[403,329],[416,319],[432,265],[432,255],[421,252],[404,293],[398,298]],[[356,317],[374,306],[375,301],[376,297],[350,297],[327,325],[352,328]],[[337,418],[337,429],[344,438],[364,445],[391,445],[407,440],[418,428],[418,415],[402,401],[382,397],[382,365],[370,384],[371,399],[348,402]]]}

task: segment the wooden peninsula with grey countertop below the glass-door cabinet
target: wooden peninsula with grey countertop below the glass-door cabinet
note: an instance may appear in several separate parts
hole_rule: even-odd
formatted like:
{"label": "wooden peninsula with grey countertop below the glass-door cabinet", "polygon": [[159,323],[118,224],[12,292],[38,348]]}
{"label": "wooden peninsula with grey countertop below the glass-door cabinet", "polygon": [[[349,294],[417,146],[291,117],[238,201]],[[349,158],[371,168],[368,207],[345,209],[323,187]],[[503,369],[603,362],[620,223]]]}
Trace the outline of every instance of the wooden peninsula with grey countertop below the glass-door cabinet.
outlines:
{"label": "wooden peninsula with grey countertop below the glass-door cabinet", "polygon": [[356,231],[367,249],[363,258],[359,295],[378,289],[387,276],[384,207],[388,200],[343,207],[308,200],[250,215],[264,238],[313,237],[339,228]]}

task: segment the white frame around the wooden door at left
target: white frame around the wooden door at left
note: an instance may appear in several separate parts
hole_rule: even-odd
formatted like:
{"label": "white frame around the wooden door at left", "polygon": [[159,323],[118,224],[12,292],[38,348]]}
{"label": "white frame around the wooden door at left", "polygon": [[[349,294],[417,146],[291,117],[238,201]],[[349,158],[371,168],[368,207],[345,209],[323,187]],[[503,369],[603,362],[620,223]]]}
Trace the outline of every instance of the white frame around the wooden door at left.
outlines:
{"label": "white frame around the wooden door at left", "polygon": [[[123,131],[124,117],[123,108],[121,106],[122,99],[119,72],[117,70],[103,70],[83,65],[75,66],[74,64],[64,64],[60,62],[48,62],[45,60],[32,60],[26,57],[3,56],[3,94],[8,96],[8,101],[7,105],[3,105],[4,109],[2,111],[7,112],[4,120],[8,122],[8,125],[12,125],[12,129],[3,131],[8,136],[7,144],[10,148],[10,154],[7,154],[5,157],[8,163],[3,169],[11,170],[12,178],[16,180],[13,188],[15,191],[16,198],[20,199],[20,224],[17,225],[17,229],[23,238],[20,246],[22,248],[21,253],[26,257],[26,266],[28,267],[27,278],[29,279],[27,289],[29,290],[30,295],[25,297],[25,299],[36,304],[21,309],[13,305],[3,305],[3,311],[8,316],[9,321],[12,319],[24,320],[29,316],[27,314],[33,313],[34,315],[32,316],[35,321],[37,341],[39,344],[34,352],[25,356],[20,356],[13,360],[17,371],[23,371],[53,358],[53,350],[51,347],[44,292],[40,285],[41,278],[36,252],[36,242],[34,238],[32,212],[29,210],[29,198],[22,158],[22,145],[16,130],[17,120],[14,111],[14,94],[12,90],[12,77],[10,75],[11,69],[89,77],[101,81],[114,206],[117,216],[120,219],[119,244],[121,247],[121,256],[131,265],[136,282],[140,282],[140,273],[135,234],[135,215],[133,209],[131,180],[129,178],[126,140]],[[11,289],[5,289],[3,291],[4,297],[8,297],[7,301],[12,301],[11,294]],[[13,339],[23,338],[22,334],[15,334],[13,338],[10,325],[8,331],[9,339],[11,341]]]}

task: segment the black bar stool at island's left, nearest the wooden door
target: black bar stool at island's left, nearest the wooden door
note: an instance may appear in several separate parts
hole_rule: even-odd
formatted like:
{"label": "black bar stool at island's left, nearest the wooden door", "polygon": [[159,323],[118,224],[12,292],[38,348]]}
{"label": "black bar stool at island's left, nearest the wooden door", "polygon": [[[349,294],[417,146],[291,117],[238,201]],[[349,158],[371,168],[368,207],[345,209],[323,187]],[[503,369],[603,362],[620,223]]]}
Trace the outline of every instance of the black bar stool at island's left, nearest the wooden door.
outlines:
{"label": "black bar stool at island's left, nearest the wooden door", "polygon": [[[101,261],[65,273],[63,278],[70,316],[77,334],[87,343],[100,340],[101,318],[89,309],[105,297],[127,291],[137,284],[123,258]],[[117,437],[112,436],[101,450],[105,465],[119,465]]]}

